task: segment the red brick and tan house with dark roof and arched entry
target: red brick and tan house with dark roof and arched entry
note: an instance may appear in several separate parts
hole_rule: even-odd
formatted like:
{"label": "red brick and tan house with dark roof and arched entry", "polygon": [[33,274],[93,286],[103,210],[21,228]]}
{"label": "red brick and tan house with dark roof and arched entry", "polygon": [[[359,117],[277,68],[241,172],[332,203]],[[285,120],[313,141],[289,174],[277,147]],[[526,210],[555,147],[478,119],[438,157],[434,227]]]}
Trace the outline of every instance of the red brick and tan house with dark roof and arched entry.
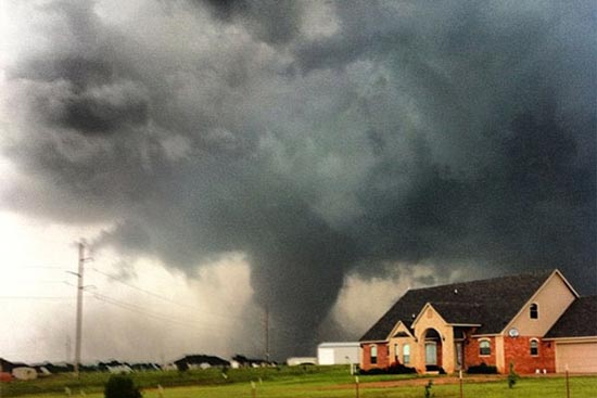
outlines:
{"label": "red brick and tan house with dark roof and arched entry", "polygon": [[364,370],[597,372],[597,296],[558,270],[409,290],[359,342]]}

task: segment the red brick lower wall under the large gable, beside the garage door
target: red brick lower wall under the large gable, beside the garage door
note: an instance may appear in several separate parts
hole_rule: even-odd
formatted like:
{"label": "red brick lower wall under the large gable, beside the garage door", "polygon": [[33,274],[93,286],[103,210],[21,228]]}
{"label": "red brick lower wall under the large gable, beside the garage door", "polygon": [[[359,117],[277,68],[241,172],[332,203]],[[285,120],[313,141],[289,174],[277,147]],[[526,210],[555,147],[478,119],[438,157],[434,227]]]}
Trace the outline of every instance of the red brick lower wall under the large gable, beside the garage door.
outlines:
{"label": "red brick lower wall under the large gable, beside the garage door", "polygon": [[506,369],[510,362],[517,373],[535,373],[536,369],[556,372],[556,345],[552,342],[542,342],[538,338],[538,355],[531,356],[531,338],[529,336],[506,337],[504,341],[504,357]]}

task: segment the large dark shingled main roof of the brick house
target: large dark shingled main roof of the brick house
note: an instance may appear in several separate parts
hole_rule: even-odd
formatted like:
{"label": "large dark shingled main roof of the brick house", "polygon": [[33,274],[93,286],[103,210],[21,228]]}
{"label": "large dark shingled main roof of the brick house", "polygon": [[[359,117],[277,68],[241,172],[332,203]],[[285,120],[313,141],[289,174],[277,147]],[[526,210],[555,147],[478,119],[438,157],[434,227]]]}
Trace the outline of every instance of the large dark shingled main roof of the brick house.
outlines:
{"label": "large dark shingled main roof of the brick house", "polygon": [[552,272],[541,271],[410,290],[360,341],[386,339],[398,321],[410,328],[427,303],[431,303],[448,323],[481,324],[477,332],[479,334],[499,333]]}

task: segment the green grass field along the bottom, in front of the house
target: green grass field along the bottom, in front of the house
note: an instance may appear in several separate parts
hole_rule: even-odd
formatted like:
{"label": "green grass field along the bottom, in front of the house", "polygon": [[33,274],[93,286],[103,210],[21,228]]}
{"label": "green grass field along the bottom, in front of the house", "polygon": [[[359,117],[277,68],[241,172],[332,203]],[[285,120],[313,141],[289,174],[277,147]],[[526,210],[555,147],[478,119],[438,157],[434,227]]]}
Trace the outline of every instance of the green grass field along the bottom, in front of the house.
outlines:
{"label": "green grass field along the bottom, in front of the house", "polygon": [[[88,398],[103,397],[107,374],[85,374],[80,384],[72,376],[59,375],[35,382],[2,385],[1,398],[64,398],[68,386],[73,397],[82,389]],[[230,370],[223,377],[219,370],[190,372],[148,372],[132,375],[142,387],[144,398],[160,398],[156,386],[164,386],[163,398],[350,398],[356,386],[344,367],[308,367]],[[359,376],[360,398],[424,397],[424,386],[433,381],[433,397],[460,396],[458,380],[449,376],[412,375]],[[253,386],[255,389],[253,389]],[[597,397],[597,376],[570,377],[570,397]],[[468,398],[566,398],[566,380],[561,376],[522,377],[508,388],[504,376],[465,377],[463,396]]]}

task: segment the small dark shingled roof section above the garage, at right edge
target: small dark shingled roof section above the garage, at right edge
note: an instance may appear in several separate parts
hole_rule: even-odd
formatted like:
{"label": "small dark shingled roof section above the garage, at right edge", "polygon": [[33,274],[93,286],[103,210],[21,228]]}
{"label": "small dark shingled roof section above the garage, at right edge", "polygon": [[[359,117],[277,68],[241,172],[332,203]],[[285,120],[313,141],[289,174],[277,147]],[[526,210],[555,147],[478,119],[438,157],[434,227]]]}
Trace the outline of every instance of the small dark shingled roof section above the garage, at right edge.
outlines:
{"label": "small dark shingled roof section above the garage, at right edge", "polygon": [[545,338],[597,336],[597,296],[579,297]]}

